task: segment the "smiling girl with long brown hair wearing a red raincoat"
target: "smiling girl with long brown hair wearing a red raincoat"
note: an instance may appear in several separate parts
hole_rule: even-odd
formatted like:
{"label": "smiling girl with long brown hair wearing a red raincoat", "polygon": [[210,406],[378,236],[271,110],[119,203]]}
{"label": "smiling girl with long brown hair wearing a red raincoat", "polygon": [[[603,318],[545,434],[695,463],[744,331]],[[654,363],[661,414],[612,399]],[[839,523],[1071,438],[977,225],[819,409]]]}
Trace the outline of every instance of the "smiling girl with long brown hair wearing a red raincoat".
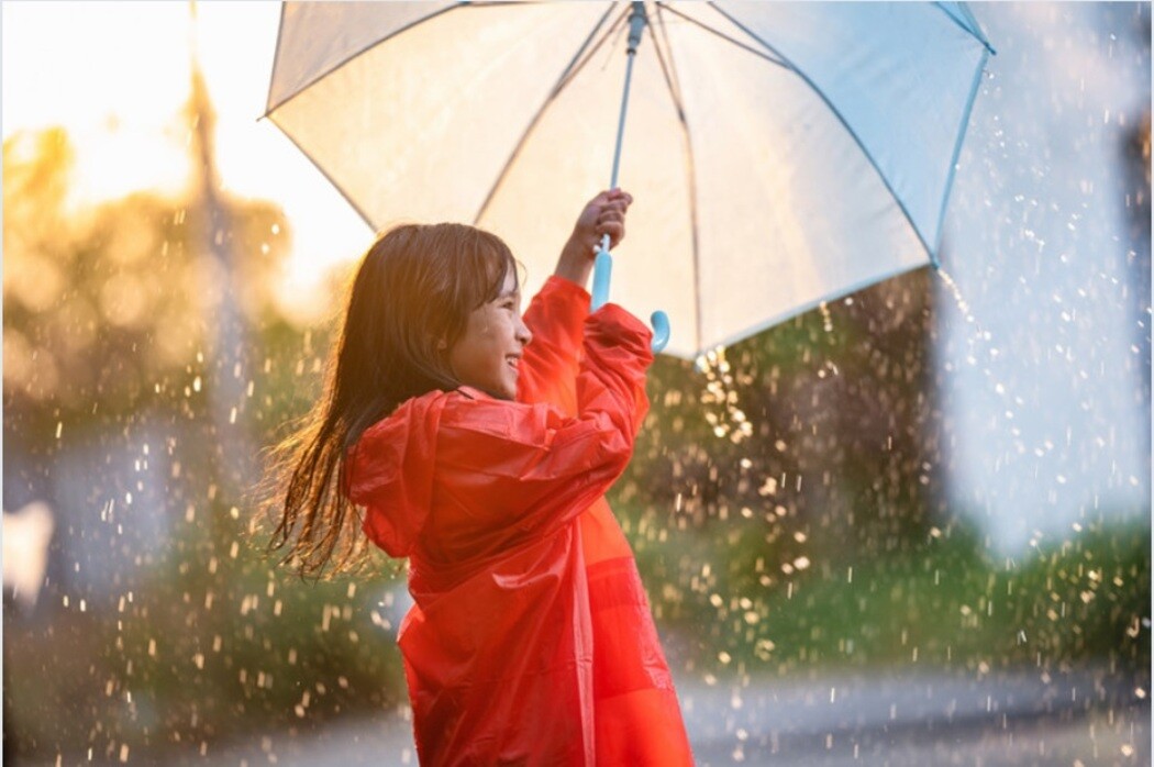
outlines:
{"label": "smiling girl with long brown hair wearing a red raincoat", "polygon": [[455,224],[382,235],[325,397],[282,446],[273,547],[304,574],[355,558],[358,520],[409,557],[415,604],[398,642],[422,765],[692,764],[604,499],[647,408],[652,353],[620,307],[590,314],[583,285],[630,203],[613,190],[584,208],[524,318],[496,236]]}

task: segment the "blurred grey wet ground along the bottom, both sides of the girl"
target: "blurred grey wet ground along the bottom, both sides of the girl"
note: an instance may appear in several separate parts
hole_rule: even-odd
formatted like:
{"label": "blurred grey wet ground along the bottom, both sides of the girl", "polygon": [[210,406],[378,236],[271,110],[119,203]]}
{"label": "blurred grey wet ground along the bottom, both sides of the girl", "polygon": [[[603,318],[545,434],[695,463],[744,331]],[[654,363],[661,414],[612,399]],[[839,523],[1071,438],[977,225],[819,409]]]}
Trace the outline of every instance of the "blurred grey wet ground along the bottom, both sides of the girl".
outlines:
{"label": "blurred grey wet ground along the bottom, both sides of the girl", "polygon": [[[682,679],[679,692],[700,767],[1151,764],[1149,691],[1104,671],[906,672],[744,689]],[[417,764],[398,712],[156,759],[235,767]]]}

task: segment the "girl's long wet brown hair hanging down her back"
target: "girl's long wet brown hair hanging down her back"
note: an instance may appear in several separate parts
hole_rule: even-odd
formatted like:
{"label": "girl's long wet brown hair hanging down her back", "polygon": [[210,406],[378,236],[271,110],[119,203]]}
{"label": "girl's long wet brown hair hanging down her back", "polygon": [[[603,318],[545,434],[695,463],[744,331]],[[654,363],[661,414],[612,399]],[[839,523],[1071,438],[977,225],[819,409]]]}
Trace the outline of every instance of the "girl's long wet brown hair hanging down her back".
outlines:
{"label": "girl's long wet brown hair hanging down her back", "polygon": [[463,224],[398,226],[365,254],[324,393],[269,452],[261,492],[276,520],[269,549],[283,550],[283,562],[302,577],[365,564],[361,517],[342,488],[349,449],[406,399],[460,385],[439,343],[452,346],[469,315],[497,298],[509,270],[516,270],[509,247]]}

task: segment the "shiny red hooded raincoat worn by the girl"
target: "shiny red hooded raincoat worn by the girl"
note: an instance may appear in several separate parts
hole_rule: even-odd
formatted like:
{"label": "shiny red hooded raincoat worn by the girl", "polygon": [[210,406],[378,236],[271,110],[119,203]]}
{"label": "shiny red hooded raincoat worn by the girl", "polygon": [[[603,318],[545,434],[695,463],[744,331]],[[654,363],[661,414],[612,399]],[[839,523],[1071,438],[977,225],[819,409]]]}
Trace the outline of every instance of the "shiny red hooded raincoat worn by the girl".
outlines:
{"label": "shiny red hooded raincoat worn by the girl", "polygon": [[691,765],[632,551],[604,494],[647,408],[650,333],[554,277],[518,403],[400,405],[351,451],[365,532],[410,558],[400,626],[422,765]]}

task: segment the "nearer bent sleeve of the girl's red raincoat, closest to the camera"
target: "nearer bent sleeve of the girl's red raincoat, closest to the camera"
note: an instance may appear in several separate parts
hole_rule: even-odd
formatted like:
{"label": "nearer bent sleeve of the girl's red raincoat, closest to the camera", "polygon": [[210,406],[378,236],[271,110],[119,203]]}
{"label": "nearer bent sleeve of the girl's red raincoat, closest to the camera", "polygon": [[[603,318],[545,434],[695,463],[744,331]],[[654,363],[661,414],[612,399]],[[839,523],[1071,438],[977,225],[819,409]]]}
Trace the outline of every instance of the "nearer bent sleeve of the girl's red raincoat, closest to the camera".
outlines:
{"label": "nearer bent sleeve of the girl's red raincoat, closest to the camera", "polygon": [[[520,539],[576,518],[632,454],[649,406],[651,333],[614,304],[591,315],[584,326],[576,416],[549,404],[464,397],[452,398],[441,415],[439,472],[452,478],[445,484],[455,495],[472,499],[471,514],[489,516],[471,519],[466,527],[487,527],[501,548],[514,543],[510,534]],[[460,521],[454,526],[458,531]]]}

